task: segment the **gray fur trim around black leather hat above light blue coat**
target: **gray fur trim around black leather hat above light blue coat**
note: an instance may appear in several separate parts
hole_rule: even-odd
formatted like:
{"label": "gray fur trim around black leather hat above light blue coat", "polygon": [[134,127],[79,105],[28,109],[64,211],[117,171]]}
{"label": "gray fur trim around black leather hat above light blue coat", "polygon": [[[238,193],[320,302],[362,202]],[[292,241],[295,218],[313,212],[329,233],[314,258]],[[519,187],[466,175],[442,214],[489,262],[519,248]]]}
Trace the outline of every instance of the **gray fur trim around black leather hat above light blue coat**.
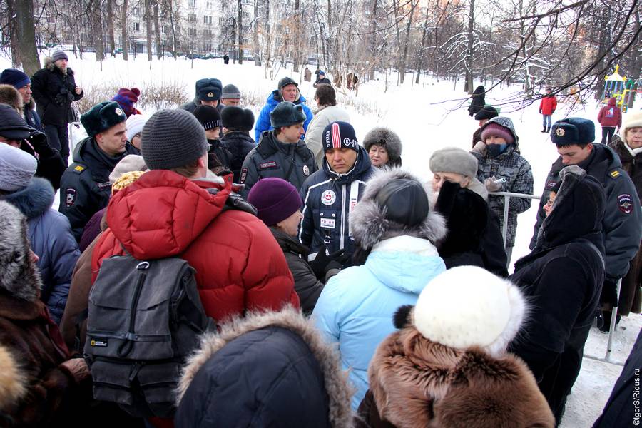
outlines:
{"label": "gray fur trim around black leather hat above light blue coat", "polygon": [[[425,220],[413,228],[385,218],[384,210],[374,202],[374,197],[390,180],[399,178],[417,180],[414,175],[407,171],[394,168],[391,170],[377,170],[367,182],[362,199],[350,213],[350,234],[355,238],[355,243],[360,248],[370,250],[382,240],[401,235],[426,239],[431,243],[436,243],[445,238],[447,233],[446,221],[442,215],[432,209]],[[424,189],[429,199],[431,199],[432,190],[426,185],[424,185]]]}

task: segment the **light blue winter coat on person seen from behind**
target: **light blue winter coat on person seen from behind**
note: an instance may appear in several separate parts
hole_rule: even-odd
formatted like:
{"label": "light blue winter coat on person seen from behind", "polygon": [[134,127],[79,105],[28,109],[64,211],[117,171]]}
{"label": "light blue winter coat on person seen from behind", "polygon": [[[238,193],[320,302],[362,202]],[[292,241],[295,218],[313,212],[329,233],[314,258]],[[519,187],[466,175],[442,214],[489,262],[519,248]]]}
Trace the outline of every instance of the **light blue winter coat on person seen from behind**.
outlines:
{"label": "light blue winter coat on person seen from behind", "polygon": [[427,283],[445,270],[429,240],[401,235],[374,245],[364,265],[342,270],[325,285],[312,319],[327,340],[339,344],[342,368],[350,370],[357,389],[353,410],[367,392],[374,351],[395,330],[394,312],[414,305]]}

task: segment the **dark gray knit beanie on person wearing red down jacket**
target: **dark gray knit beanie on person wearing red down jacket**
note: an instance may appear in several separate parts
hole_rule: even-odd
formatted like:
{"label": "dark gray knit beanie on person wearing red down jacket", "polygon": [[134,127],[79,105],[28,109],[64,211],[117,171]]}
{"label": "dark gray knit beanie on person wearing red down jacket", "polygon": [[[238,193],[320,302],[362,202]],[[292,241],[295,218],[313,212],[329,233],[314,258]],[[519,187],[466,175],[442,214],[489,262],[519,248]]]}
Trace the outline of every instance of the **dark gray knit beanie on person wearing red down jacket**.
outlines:
{"label": "dark gray knit beanie on person wearing red down jacket", "polygon": [[205,130],[186,110],[159,110],[143,126],[141,152],[151,170],[189,165],[208,151]]}

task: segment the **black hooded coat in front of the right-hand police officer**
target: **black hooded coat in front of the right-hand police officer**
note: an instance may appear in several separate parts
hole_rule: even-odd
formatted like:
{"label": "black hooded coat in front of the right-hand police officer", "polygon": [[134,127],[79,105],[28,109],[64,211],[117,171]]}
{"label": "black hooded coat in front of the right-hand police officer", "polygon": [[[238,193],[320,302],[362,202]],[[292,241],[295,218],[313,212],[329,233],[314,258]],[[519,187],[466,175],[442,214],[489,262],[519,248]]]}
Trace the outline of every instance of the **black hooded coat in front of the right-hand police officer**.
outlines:
{"label": "black hooded coat in front of the right-hand police officer", "polygon": [[579,374],[604,280],[603,188],[571,168],[580,173],[566,173],[534,250],[510,277],[531,306],[510,351],[529,366],[556,418]]}

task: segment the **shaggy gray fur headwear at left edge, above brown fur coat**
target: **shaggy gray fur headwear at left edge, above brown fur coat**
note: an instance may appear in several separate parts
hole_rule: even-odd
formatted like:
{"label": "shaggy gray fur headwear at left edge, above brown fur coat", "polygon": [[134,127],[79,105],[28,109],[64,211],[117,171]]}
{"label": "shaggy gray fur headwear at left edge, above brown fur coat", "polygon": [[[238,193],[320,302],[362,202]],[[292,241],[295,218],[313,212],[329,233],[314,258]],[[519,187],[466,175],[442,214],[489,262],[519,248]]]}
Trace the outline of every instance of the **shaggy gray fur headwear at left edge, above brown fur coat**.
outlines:
{"label": "shaggy gray fur headwear at left edge, above brown fur coat", "polygon": [[31,261],[24,215],[0,200],[0,288],[9,295],[33,302],[42,288],[40,273]]}

